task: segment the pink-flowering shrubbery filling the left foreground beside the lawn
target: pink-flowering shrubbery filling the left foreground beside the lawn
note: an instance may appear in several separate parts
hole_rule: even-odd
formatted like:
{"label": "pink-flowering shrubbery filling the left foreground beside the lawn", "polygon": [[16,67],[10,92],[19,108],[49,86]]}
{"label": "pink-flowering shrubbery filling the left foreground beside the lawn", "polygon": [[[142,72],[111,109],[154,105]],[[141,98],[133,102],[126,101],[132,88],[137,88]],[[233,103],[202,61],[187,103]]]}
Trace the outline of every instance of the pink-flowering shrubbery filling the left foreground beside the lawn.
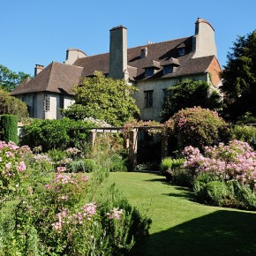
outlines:
{"label": "pink-flowering shrubbery filling the left foreground beside the lawn", "polygon": [[[108,169],[94,170],[91,179],[67,173],[59,154],[51,152],[52,162],[39,150],[0,141],[0,255],[131,253],[150,220],[114,186],[102,191]],[[79,151],[65,154],[75,160]]]}

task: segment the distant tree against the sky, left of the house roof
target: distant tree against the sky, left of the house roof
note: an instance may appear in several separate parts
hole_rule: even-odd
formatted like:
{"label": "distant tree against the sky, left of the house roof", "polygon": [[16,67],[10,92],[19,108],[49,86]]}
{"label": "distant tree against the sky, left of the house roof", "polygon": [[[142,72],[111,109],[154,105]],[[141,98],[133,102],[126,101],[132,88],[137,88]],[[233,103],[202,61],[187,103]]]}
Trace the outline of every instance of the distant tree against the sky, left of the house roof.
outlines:
{"label": "distant tree against the sky, left of the house roof", "polygon": [[0,64],[0,88],[6,91],[11,92],[27,77],[30,75],[24,72],[11,72],[7,67]]}

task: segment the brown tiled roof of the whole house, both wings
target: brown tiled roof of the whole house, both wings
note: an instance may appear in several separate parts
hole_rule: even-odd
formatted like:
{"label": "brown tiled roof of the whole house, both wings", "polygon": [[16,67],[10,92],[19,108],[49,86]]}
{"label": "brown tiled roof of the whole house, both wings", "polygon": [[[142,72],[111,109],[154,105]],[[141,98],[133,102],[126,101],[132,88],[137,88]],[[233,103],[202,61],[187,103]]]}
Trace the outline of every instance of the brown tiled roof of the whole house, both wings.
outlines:
{"label": "brown tiled roof of the whole house, both wings", "polygon": [[[184,55],[179,56],[178,49],[185,47]],[[141,49],[147,47],[147,56],[141,57]],[[127,50],[129,78],[140,79],[167,79],[207,72],[207,68],[215,56],[192,58],[192,36],[171,41],[162,41],[147,44]],[[145,67],[148,64],[159,64],[159,69],[151,77],[145,77]],[[163,65],[176,65],[175,72],[163,74]],[[11,92],[26,94],[49,91],[54,93],[72,93],[72,87],[82,79],[94,75],[95,71],[109,73],[109,53],[79,58],[74,64],[60,64],[53,62],[43,71],[26,83],[22,83]]]}

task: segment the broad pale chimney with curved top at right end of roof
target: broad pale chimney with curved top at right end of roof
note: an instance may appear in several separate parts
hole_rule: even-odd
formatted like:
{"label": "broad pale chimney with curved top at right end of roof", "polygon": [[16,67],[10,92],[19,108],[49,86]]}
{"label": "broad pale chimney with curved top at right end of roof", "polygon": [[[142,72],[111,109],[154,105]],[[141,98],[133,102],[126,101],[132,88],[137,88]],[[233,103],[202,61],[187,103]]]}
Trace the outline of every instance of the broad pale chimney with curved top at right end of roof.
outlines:
{"label": "broad pale chimney with curved top at right end of roof", "polygon": [[206,19],[198,18],[195,22],[193,51],[195,53],[192,58],[212,55],[217,56],[215,29]]}

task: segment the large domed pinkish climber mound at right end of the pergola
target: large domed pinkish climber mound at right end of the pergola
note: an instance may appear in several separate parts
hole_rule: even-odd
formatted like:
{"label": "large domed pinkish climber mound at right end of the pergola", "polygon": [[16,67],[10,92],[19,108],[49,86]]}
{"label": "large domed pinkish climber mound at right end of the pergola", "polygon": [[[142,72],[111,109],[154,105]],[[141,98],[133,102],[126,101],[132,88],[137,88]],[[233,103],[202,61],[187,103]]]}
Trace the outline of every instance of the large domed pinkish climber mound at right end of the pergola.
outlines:
{"label": "large domed pinkish climber mound at right end of the pergola", "polygon": [[177,136],[179,150],[186,146],[215,145],[220,139],[229,140],[229,129],[222,117],[209,109],[182,109],[167,121],[170,132]]}

